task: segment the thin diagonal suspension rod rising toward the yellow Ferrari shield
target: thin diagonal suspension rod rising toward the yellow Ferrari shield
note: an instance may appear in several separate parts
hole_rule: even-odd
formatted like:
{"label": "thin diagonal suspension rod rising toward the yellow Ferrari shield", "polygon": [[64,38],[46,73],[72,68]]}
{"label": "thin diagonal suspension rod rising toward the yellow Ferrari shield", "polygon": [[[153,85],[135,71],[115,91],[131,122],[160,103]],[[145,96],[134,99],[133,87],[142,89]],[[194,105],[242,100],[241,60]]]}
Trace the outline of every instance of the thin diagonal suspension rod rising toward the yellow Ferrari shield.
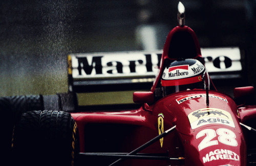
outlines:
{"label": "thin diagonal suspension rod rising toward the yellow Ferrari shield", "polygon": [[[162,134],[156,136],[155,138],[151,139],[150,141],[148,141],[147,143],[145,143],[144,145],[140,146],[139,148],[135,149],[134,151],[128,153],[127,155],[134,155],[136,153],[138,153],[139,151],[142,151],[143,149],[145,149],[146,147],[154,144],[156,141],[158,141],[159,139],[161,139],[162,137],[166,136],[168,133],[170,133],[171,131],[173,131],[176,128],[176,125],[168,130],[166,130],[165,132],[163,132]],[[113,166],[115,164],[117,164],[118,162],[122,161],[123,159],[120,158],[118,160],[116,160],[115,162],[113,162],[112,164],[110,164],[109,166]]]}

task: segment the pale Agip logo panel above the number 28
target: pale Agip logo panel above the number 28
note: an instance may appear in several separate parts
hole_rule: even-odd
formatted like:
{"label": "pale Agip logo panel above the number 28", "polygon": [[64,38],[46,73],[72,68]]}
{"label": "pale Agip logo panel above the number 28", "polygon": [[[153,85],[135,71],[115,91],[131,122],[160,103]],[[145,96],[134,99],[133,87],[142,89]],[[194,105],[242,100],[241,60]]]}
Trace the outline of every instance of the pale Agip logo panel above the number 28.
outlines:
{"label": "pale Agip logo panel above the number 28", "polygon": [[203,108],[187,115],[191,129],[210,124],[227,125],[234,128],[231,114],[218,108]]}

